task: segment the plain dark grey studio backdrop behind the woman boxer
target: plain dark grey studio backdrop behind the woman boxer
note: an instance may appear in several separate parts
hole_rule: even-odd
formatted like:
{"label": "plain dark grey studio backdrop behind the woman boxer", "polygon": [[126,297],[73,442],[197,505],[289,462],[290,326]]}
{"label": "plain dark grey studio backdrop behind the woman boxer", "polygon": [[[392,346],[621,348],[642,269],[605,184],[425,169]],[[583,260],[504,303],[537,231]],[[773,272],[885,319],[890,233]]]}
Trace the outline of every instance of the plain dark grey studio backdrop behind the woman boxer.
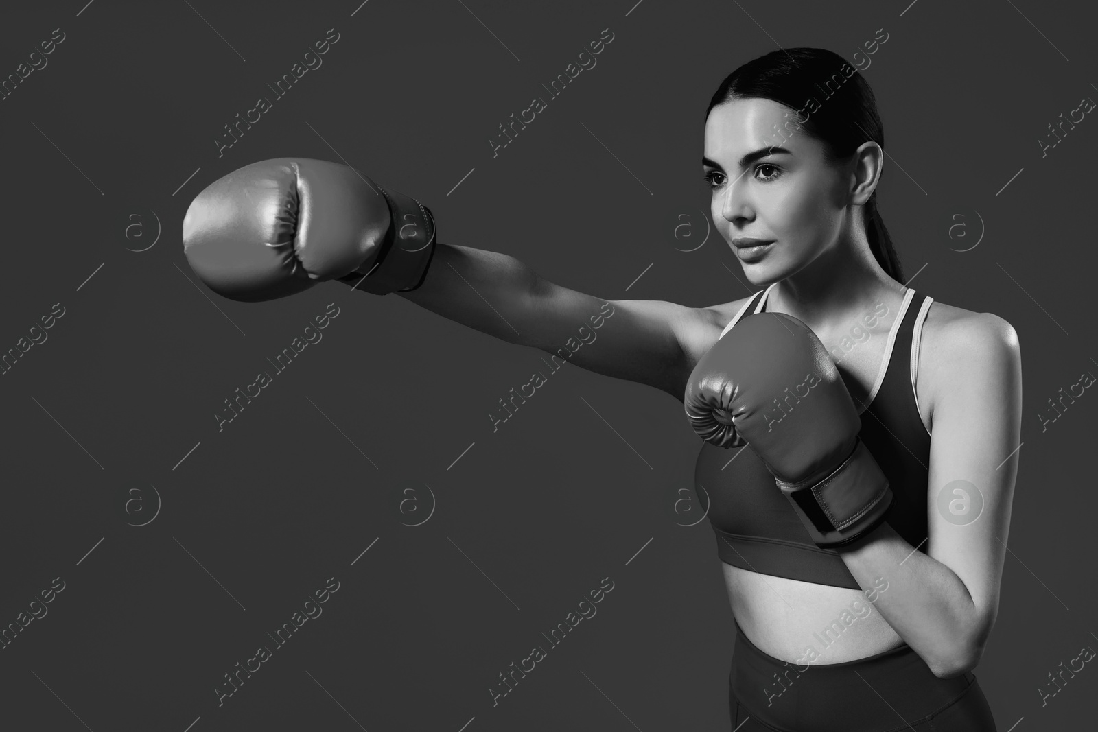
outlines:
{"label": "plain dark grey studio backdrop behind the woman boxer", "polygon": [[[709,97],[778,45],[852,59],[882,27],[863,74],[911,286],[1002,316],[1022,345],[1011,551],[976,674],[1000,730],[1093,719],[1098,672],[1044,708],[1037,688],[1098,649],[1098,396],[1043,433],[1038,415],[1098,373],[1098,123],[1044,158],[1037,140],[1098,98],[1094,18],[1063,1],[635,1],[4,9],[0,76],[54,29],[66,40],[0,102],[0,348],[54,303],[66,314],[0,376],[0,626],[66,587],[0,651],[0,724],[727,729],[732,615],[708,522],[680,526],[699,516],[701,446],[680,403],[567,365],[493,433],[540,351],[338,283],[227,301],[197,284],[180,225],[236,168],[346,160],[432,206],[441,241],[605,299],[727,302],[751,292],[736,258],[715,234],[695,249]],[[332,27],[323,66],[219,157],[223,125]],[[597,66],[493,158],[497,125],[606,27]],[[223,399],[332,302],[324,340],[219,433]],[[219,708],[223,674],[333,576],[324,613]],[[497,674],[603,577],[598,613],[493,708]]]}

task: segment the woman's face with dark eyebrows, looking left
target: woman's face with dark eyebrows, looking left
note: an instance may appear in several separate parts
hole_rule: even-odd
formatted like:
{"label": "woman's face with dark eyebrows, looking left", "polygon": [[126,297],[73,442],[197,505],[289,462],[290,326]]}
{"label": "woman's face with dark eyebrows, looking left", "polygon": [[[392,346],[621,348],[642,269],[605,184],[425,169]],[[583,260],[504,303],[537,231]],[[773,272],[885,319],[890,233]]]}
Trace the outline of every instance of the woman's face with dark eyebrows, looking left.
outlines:
{"label": "woman's face with dark eyebrows, looking left", "polygon": [[[822,144],[795,120],[778,102],[741,99],[715,106],[705,122],[713,221],[757,286],[809,264],[848,225],[853,181],[825,161]],[[770,244],[739,248],[737,239]]]}

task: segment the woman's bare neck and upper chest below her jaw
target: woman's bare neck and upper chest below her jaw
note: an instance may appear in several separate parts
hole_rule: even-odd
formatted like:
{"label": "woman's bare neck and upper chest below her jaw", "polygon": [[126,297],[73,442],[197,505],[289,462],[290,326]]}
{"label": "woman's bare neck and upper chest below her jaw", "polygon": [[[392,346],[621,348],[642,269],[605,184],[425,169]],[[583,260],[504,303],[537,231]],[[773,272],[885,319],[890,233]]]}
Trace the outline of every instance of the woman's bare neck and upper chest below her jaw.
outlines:
{"label": "woman's bare neck and upper chest below her jaw", "polygon": [[881,269],[864,238],[838,241],[807,267],[771,290],[768,311],[787,313],[814,330],[872,311],[883,299],[899,297],[904,285]]}

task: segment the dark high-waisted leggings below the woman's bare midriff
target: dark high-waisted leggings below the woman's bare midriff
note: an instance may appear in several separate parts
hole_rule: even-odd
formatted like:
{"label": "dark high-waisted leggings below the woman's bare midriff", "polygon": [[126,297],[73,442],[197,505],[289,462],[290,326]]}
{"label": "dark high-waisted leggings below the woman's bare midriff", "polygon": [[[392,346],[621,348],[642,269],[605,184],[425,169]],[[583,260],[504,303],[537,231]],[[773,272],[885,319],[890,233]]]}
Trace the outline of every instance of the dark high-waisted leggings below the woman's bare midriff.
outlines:
{"label": "dark high-waisted leggings below the woman's bare midriff", "polygon": [[906,643],[806,667],[763,653],[737,626],[728,680],[736,732],[995,732],[976,677],[938,678]]}

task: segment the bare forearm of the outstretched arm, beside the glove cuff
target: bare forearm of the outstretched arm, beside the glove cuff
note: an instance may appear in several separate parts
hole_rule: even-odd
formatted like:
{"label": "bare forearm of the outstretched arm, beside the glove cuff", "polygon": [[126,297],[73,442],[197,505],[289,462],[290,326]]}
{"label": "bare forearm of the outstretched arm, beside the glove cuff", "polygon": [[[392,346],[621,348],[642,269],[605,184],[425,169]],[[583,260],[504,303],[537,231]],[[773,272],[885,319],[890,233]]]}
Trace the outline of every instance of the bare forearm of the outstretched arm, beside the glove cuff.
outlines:
{"label": "bare forearm of the outstretched arm, beside the glove cuff", "polygon": [[396,294],[490,336],[525,342],[538,281],[534,270],[508,255],[438,244],[423,284]]}

